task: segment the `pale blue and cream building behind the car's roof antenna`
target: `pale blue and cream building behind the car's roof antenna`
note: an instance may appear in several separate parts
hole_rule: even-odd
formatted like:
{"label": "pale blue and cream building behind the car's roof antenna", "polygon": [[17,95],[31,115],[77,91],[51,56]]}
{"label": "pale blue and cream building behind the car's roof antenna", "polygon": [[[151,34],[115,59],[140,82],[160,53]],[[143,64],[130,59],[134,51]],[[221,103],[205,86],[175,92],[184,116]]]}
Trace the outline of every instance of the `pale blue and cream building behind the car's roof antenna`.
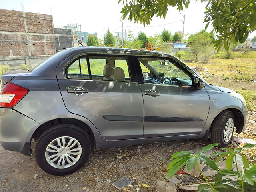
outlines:
{"label": "pale blue and cream building behind the car's roof antenna", "polygon": [[[74,26],[73,24],[67,24],[67,26],[64,26],[65,29],[71,29],[73,31],[73,36],[75,36],[83,45],[87,45],[87,38],[88,36],[97,36],[97,33],[89,33],[81,31],[81,27],[78,28],[77,26]],[[76,40],[76,38],[73,39],[74,41],[74,47],[79,47],[81,44]]]}

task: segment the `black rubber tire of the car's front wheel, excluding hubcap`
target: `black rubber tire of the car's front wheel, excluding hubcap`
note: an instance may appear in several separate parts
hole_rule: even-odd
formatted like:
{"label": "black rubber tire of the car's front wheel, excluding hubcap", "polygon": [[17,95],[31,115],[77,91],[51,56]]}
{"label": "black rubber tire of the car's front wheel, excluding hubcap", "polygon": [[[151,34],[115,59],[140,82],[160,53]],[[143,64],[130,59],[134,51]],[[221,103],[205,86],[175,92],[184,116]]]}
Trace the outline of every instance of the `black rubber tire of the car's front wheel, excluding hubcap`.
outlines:
{"label": "black rubber tire of the car's front wheel, excluding hubcap", "polygon": [[224,140],[225,126],[228,119],[230,118],[232,118],[234,122],[234,114],[229,110],[224,110],[220,114],[218,114],[218,116],[214,119],[212,123],[212,142],[219,143],[218,147],[220,148],[226,147],[231,142],[233,133],[232,136],[230,137],[230,140],[228,140],[227,142],[225,142]]}

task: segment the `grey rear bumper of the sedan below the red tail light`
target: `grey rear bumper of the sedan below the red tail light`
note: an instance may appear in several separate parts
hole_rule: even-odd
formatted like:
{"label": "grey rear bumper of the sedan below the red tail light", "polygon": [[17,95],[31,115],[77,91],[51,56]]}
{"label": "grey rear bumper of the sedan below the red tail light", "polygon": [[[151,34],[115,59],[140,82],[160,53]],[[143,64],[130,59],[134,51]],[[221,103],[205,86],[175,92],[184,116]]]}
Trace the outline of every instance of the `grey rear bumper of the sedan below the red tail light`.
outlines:
{"label": "grey rear bumper of the sedan below the red tail light", "polygon": [[37,124],[38,122],[16,110],[0,108],[0,143],[2,147],[6,150],[30,155],[31,138],[28,138],[28,135]]}

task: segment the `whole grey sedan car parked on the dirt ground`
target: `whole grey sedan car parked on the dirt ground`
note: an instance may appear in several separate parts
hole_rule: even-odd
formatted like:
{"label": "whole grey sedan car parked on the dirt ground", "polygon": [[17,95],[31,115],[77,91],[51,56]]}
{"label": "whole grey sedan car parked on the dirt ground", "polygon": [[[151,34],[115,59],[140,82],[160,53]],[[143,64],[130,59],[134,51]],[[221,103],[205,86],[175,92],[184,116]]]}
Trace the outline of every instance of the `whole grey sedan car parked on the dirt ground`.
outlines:
{"label": "whole grey sedan car parked on the dirt ground", "polygon": [[202,138],[230,143],[245,130],[244,98],[204,81],[169,54],[77,47],[1,77],[0,142],[70,174],[91,150]]}

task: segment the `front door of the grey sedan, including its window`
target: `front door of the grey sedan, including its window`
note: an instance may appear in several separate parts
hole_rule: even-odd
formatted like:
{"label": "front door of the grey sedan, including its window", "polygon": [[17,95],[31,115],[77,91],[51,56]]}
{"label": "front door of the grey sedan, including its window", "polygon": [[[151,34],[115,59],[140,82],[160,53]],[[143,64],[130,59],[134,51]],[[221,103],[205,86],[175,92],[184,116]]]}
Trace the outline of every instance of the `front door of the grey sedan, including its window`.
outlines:
{"label": "front door of the grey sedan, including its window", "polygon": [[194,135],[202,132],[210,102],[205,89],[171,58],[138,57],[144,84],[144,137]]}

